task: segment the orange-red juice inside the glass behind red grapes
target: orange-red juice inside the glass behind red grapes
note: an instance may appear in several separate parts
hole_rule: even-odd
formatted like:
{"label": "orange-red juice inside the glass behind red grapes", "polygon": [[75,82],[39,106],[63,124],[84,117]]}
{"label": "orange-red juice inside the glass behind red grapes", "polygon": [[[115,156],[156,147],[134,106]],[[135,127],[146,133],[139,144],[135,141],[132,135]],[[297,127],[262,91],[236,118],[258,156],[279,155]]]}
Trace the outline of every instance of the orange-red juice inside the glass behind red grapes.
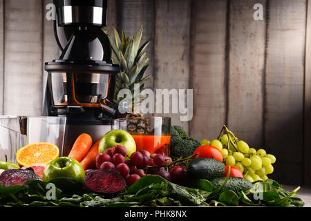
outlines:
{"label": "orange-red juice inside the glass behind red grapes", "polygon": [[132,135],[136,151],[146,150],[149,153],[169,154],[170,135]]}

